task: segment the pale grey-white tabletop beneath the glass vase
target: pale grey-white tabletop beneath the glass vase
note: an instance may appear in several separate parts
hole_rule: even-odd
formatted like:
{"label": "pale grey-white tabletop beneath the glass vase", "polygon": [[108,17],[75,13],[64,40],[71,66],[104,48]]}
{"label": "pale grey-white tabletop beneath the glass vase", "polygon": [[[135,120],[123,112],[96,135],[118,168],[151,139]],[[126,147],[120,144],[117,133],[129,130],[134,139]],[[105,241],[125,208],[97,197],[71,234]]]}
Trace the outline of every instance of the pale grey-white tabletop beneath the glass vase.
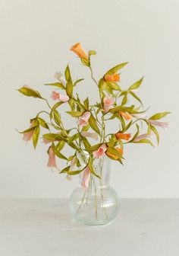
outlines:
{"label": "pale grey-white tabletop beneath the glass vase", "polygon": [[68,200],[0,200],[1,256],[178,256],[179,200],[121,200],[108,226],[82,226]]}

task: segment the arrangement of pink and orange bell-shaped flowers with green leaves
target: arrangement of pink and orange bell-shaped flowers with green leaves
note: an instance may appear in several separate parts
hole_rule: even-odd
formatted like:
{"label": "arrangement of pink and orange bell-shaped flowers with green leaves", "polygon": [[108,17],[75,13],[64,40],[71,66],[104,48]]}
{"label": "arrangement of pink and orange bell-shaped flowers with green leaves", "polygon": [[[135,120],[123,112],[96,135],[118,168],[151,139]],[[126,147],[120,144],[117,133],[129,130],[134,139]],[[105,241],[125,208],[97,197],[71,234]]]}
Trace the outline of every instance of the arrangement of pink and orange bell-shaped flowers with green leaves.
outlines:
{"label": "arrangement of pink and orange bell-shaped flowers with green leaves", "polygon": [[[127,65],[127,62],[109,69],[97,82],[93,76],[93,68],[91,66],[91,56],[96,55],[96,51],[89,50],[86,54],[80,43],[72,46],[71,51],[76,53],[83,66],[89,69],[91,78],[99,91],[99,101],[96,104],[90,104],[88,97],[83,101],[78,94],[74,93],[77,85],[84,79],[81,78],[74,81],[71,77],[71,70],[67,66],[64,75],[61,72],[55,73],[57,82],[47,84],[56,88],[51,95],[55,101],[53,106],[49,104],[46,98],[42,97],[39,91],[27,85],[18,89],[21,94],[39,98],[49,106],[49,112],[40,111],[36,114],[36,117],[30,119],[30,128],[21,133],[24,134],[25,141],[33,141],[34,149],[36,149],[41,129],[45,129],[46,133],[42,134],[42,139],[45,144],[49,144],[48,166],[57,168],[59,173],[67,174],[68,179],[71,178],[71,175],[83,172],[82,187],[88,187],[90,174],[100,178],[93,168],[95,158],[107,155],[111,160],[123,164],[125,144],[148,143],[153,146],[151,141],[153,135],[159,143],[159,133],[156,128],[168,127],[168,123],[162,122],[160,119],[169,114],[169,112],[153,114],[152,117],[146,118],[146,110],[143,109],[143,103],[136,94],[143,82],[143,78],[130,85],[127,90],[121,89],[121,74],[118,72]],[[140,105],[129,105],[129,97]],[[69,105],[70,109],[67,114],[73,117],[74,122],[76,122],[76,126],[69,130],[65,129],[61,120],[60,107],[62,104]],[[42,119],[40,117],[41,114],[46,114],[48,120]],[[120,125],[119,129],[116,128],[115,133],[106,134],[106,122],[108,120],[116,120],[116,123]],[[141,123],[146,123],[146,133],[140,134]],[[133,126],[135,132],[131,133],[130,130]],[[96,141],[96,143],[91,145],[89,138]],[[67,156],[62,153],[65,145],[74,149],[72,155]],[[84,168],[80,168],[80,161],[77,158],[78,152],[82,154],[87,152],[89,154],[88,163]],[[67,162],[67,167],[60,170],[56,158],[64,159]]]}

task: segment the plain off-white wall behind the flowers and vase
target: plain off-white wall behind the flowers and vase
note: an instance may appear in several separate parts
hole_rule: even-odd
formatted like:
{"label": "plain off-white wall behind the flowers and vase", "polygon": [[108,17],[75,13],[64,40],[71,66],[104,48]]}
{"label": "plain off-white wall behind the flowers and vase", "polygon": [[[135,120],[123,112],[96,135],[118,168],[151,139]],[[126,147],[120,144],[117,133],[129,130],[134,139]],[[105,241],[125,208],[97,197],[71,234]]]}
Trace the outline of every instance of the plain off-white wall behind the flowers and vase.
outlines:
{"label": "plain off-white wall behind the flowers and vase", "polygon": [[16,132],[44,104],[15,89],[27,84],[48,96],[42,85],[69,63],[74,78],[86,77],[78,85],[80,95],[96,96],[88,70],[68,50],[79,41],[98,53],[97,78],[129,61],[122,88],[145,74],[139,94],[152,106],[149,113],[172,112],[158,148],[128,146],[124,167],[112,162],[111,184],[121,197],[178,197],[178,0],[1,0],[0,12],[0,197],[68,197],[77,186],[77,179],[68,182],[46,168],[42,144],[34,152]]}

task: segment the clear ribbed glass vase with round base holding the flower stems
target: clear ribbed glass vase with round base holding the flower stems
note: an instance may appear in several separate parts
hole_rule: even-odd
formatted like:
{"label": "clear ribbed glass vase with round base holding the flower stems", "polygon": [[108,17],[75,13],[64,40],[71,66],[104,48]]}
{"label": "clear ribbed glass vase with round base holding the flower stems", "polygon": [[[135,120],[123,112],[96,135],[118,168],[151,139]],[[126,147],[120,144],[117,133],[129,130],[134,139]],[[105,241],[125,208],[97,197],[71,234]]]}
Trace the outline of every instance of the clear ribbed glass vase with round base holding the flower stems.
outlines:
{"label": "clear ribbed glass vase with round base holding the flower stems", "polygon": [[[89,155],[79,154],[77,158],[83,167]],[[109,184],[110,159],[107,156],[94,159],[93,169],[101,179],[90,174],[88,187],[82,187],[83,173],[79,174],[80,186],[71,194],[69,207],[78,222],[91,226],[105,225],[115,219],[119,210],[118,194]]]}

